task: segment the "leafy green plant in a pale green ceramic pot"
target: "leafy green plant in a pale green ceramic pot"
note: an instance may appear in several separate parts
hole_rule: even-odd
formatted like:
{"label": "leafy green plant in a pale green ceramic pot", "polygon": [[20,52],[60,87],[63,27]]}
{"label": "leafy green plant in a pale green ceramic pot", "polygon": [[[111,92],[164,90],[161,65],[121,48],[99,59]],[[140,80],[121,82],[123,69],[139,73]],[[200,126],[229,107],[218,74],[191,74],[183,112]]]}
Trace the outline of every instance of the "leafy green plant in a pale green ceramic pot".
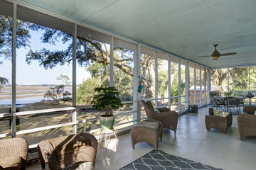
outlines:
{"label": "leafy green plant in a pale green ceramic pot", "polygon": [[97,111],[105,111],[105,114],[100,115],[100,125],[103,130],[110,130],[114,125],[113,110],[122,106],[119,98],[120,92],[113,86],[95,88],[97,94],[93,96],[92,108]]}

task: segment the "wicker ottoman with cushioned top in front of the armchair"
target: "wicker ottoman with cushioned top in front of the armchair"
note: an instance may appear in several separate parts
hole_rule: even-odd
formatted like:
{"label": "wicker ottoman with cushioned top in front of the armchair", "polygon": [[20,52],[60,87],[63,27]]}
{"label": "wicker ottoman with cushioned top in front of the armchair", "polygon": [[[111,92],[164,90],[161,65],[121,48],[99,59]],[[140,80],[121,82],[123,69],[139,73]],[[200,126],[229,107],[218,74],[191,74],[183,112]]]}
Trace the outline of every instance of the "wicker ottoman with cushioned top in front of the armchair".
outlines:
{"label": "wicker ottoman with cushioned top in front of the armchair", "polygon": [[157,151],[159,137],[162,140],[163,124],[158,120],[143,120],[132,127],[130,134],[133,149],[139,142],[148,142],[154,145]]}

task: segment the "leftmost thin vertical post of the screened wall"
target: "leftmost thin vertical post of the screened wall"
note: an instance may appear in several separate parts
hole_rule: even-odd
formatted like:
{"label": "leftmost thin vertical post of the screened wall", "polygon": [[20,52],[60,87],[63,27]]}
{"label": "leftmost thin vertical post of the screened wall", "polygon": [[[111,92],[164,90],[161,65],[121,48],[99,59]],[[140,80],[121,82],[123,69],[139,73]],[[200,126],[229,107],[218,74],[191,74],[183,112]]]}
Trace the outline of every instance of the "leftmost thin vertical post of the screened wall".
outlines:
{"label": "leftmost thin vertical post of the screened wall", "polygon": [[11,137],[16,136],[16,26],[17,4],[14,4],[13,31],[12,31],[12,64],[11,64]]}

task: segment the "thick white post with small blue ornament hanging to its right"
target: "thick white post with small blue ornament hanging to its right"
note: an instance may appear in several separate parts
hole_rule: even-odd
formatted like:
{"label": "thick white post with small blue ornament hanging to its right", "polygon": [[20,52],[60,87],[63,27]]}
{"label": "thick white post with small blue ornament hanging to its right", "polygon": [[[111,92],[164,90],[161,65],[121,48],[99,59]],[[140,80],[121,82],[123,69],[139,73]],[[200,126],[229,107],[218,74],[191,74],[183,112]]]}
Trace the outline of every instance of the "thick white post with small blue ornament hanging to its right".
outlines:
{"label": "thick white post with small blue ornament hanging to its right", "polygon": [[[134,45],[135,46],[135,45]],[[138,92],[138,87],[139,87],[139,70],[140,70],[140,65],[139,65],[139,52],[140,52],[140,46],[137,45],[134,47],[134,86],[133,86],[133,120],[137,120],[137,122],[140,121],[141,115],[140,115],[140,101],[139,101],[139,92]],[[135,124],[135,123],[134,123]]]}

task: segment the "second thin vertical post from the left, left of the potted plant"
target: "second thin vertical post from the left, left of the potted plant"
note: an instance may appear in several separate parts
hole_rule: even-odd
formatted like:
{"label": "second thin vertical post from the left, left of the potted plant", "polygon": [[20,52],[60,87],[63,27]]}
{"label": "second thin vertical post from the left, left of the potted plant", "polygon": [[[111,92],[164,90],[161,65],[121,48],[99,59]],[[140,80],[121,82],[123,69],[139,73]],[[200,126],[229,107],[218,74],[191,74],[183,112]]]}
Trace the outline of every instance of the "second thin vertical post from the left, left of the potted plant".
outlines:
{"label": "second thin vertical post from the left, left of the potted plant", "polygon": [[[73,107],[76,106],[76,38],[77,38],[77,24],[74,24],[73,27],[73,60],[72,60],[72,98],[73,98]],[[76,123],[77,121],[77,112],[74,111],[72,115],[72,121]],[[78,125],[73,125],[73,134],[76,134],[78,132]]]}

